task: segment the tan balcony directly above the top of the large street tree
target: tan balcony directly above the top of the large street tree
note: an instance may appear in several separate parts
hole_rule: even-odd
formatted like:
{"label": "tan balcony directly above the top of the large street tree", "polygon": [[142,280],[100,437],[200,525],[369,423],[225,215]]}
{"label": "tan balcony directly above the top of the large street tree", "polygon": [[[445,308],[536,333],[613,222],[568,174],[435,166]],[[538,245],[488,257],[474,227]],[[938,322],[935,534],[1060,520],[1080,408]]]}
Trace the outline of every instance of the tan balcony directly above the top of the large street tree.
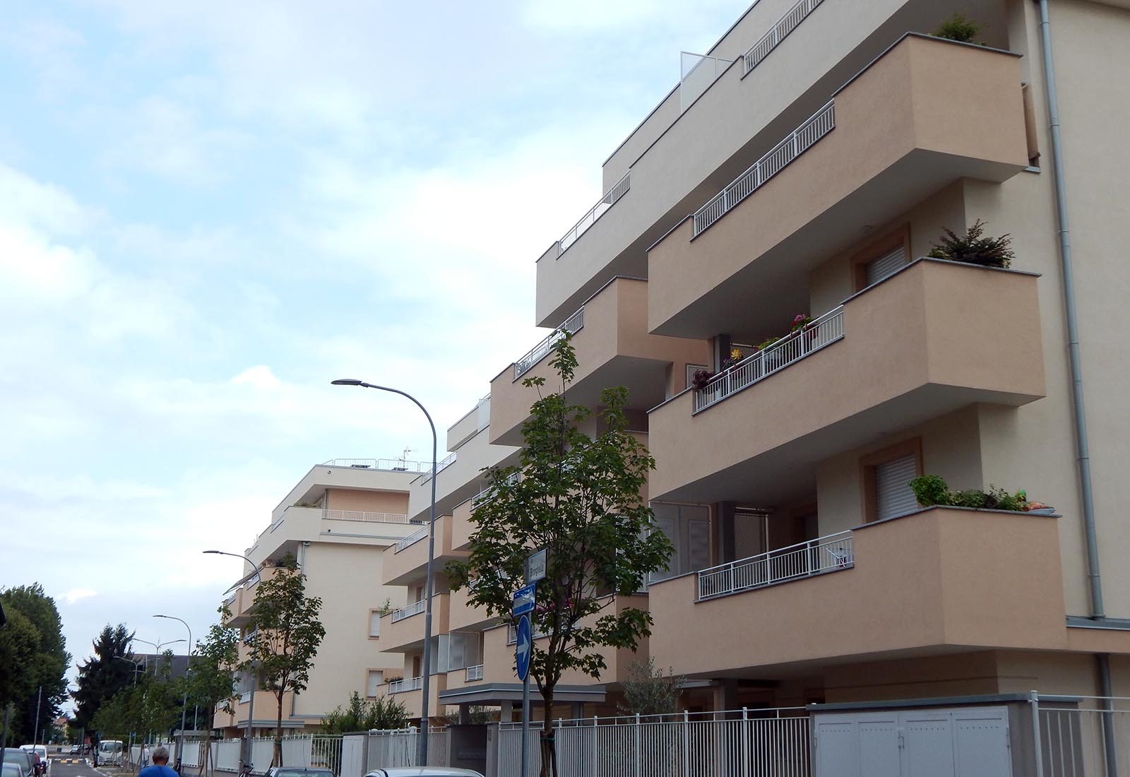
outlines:
{"label": "tan balcony directly above the top of the large street tree", "polygon": [[[647,283],[632,278],[616,278],[606,283],[565,323],[573,331],[573,346],[580,363],[568,399],[594,405],[606,386],[628,387],[634,408],[654,407],[669,395],[668,372],[685,375],[686,364],[706,364],[705,341],[647,334]],[[490,442],[521,444],[521,425],[529,417],[537,391],[521,379],[544,377],[547,386],[557,383],[549,367],[554,335],[503,370],[490,383]],[[675,365],[671,369],[671,365]]]}

